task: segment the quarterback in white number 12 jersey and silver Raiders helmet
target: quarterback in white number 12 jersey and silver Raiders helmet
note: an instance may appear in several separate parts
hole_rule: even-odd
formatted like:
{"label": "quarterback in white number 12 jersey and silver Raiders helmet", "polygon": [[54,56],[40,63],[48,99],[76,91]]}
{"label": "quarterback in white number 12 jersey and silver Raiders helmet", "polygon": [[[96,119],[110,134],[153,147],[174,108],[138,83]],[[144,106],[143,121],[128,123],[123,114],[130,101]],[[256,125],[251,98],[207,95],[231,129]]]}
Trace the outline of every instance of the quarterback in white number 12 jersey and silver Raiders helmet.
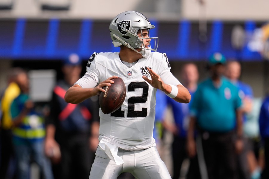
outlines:
{"label": "quarterback in white number 12 jersey and silver Raiders helmet", "polygon": [[120,52],[93,53],[85,75],[65,94],[66,102],[77,104],[104,92],[113,78],[122,78],[126,85],[122,106],[111,114],[99,112],[99,146],[90,179],[116,179],[122,172],[139,179],[171,178],[153,138],[155,94],[160,89],[181,103],[189,103],[191,96],[170,72],[166,54],[156,52],[158,37],[149,37],[152,28],[141,13],[117,15],[109,30]]}

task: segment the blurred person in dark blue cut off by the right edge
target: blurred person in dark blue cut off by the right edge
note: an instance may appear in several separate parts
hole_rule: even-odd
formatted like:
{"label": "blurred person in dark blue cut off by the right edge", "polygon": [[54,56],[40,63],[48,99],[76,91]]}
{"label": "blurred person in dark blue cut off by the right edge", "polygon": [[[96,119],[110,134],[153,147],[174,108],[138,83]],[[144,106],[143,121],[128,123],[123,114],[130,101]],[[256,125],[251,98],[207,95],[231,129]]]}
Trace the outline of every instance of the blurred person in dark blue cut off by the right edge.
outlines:
{"label": "blurred person in dark blue cut off by the right edge", "polygon": [[265,167],[262,171],[262,179],[269,178],[269,95],[262,102],[259,116],[260,134],[264,145]]}

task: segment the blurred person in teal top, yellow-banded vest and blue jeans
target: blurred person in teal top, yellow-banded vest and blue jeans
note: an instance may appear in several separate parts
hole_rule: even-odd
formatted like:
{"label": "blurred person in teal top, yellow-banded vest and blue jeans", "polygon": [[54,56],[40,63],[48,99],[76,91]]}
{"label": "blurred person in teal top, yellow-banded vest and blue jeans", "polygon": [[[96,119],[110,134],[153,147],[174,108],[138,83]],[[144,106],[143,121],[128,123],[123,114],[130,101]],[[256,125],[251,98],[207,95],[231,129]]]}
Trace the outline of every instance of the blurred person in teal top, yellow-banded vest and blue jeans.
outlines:
{"label": "blurred person in teal top, yellow-banded vest and blue jeans", "polygon": [[20,73],[17,83],[21,90],[10,111],[13,121],[13,144],[18,163],[18,178],[30,179],[31,158],[38,164],[42,177],[53,179],[51,163],[44,153],[45,124],[29,97],[29,80],[26,72]]}

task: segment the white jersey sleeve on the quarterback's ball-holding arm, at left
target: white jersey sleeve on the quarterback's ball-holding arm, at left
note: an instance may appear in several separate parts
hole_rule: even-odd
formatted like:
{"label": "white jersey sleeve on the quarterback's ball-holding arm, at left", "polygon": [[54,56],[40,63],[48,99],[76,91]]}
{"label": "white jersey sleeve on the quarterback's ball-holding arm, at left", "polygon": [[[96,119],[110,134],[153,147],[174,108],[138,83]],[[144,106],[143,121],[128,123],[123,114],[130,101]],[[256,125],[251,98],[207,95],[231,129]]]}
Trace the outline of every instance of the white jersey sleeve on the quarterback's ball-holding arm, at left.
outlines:
{"label": "white jersey sleeve on the quarterback's ball-holding arm, at left", "polygon": [[82,88],[94,88],[99,84],[99,71],[97,70],[97,53],[93,53],[87,64],[87,72],[75,84]]}

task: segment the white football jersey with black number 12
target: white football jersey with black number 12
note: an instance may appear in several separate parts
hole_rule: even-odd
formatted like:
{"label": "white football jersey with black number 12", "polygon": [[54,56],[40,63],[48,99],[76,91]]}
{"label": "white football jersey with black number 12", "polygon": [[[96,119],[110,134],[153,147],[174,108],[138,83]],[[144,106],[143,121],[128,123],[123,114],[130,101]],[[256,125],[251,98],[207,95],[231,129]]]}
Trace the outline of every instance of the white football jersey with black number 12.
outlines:
{"label": "white football jersey with black number 12", "polygon": [[75,84],[82,88],[96,87],[111,76],[123,79],[126,97],[122,106],[111,114],[103,114],[100,109],[100,140],[104,139],[126,150],[145,149],[155,145],[152,137],[156,88],[148,84],[142,76],[151,79],[149,67],[166,84],[181,84],[170,72],[165,54],[153,52],[141,58],[128,68],[119,58],[119,53],[94,53],[88,61],[87,72]]}

